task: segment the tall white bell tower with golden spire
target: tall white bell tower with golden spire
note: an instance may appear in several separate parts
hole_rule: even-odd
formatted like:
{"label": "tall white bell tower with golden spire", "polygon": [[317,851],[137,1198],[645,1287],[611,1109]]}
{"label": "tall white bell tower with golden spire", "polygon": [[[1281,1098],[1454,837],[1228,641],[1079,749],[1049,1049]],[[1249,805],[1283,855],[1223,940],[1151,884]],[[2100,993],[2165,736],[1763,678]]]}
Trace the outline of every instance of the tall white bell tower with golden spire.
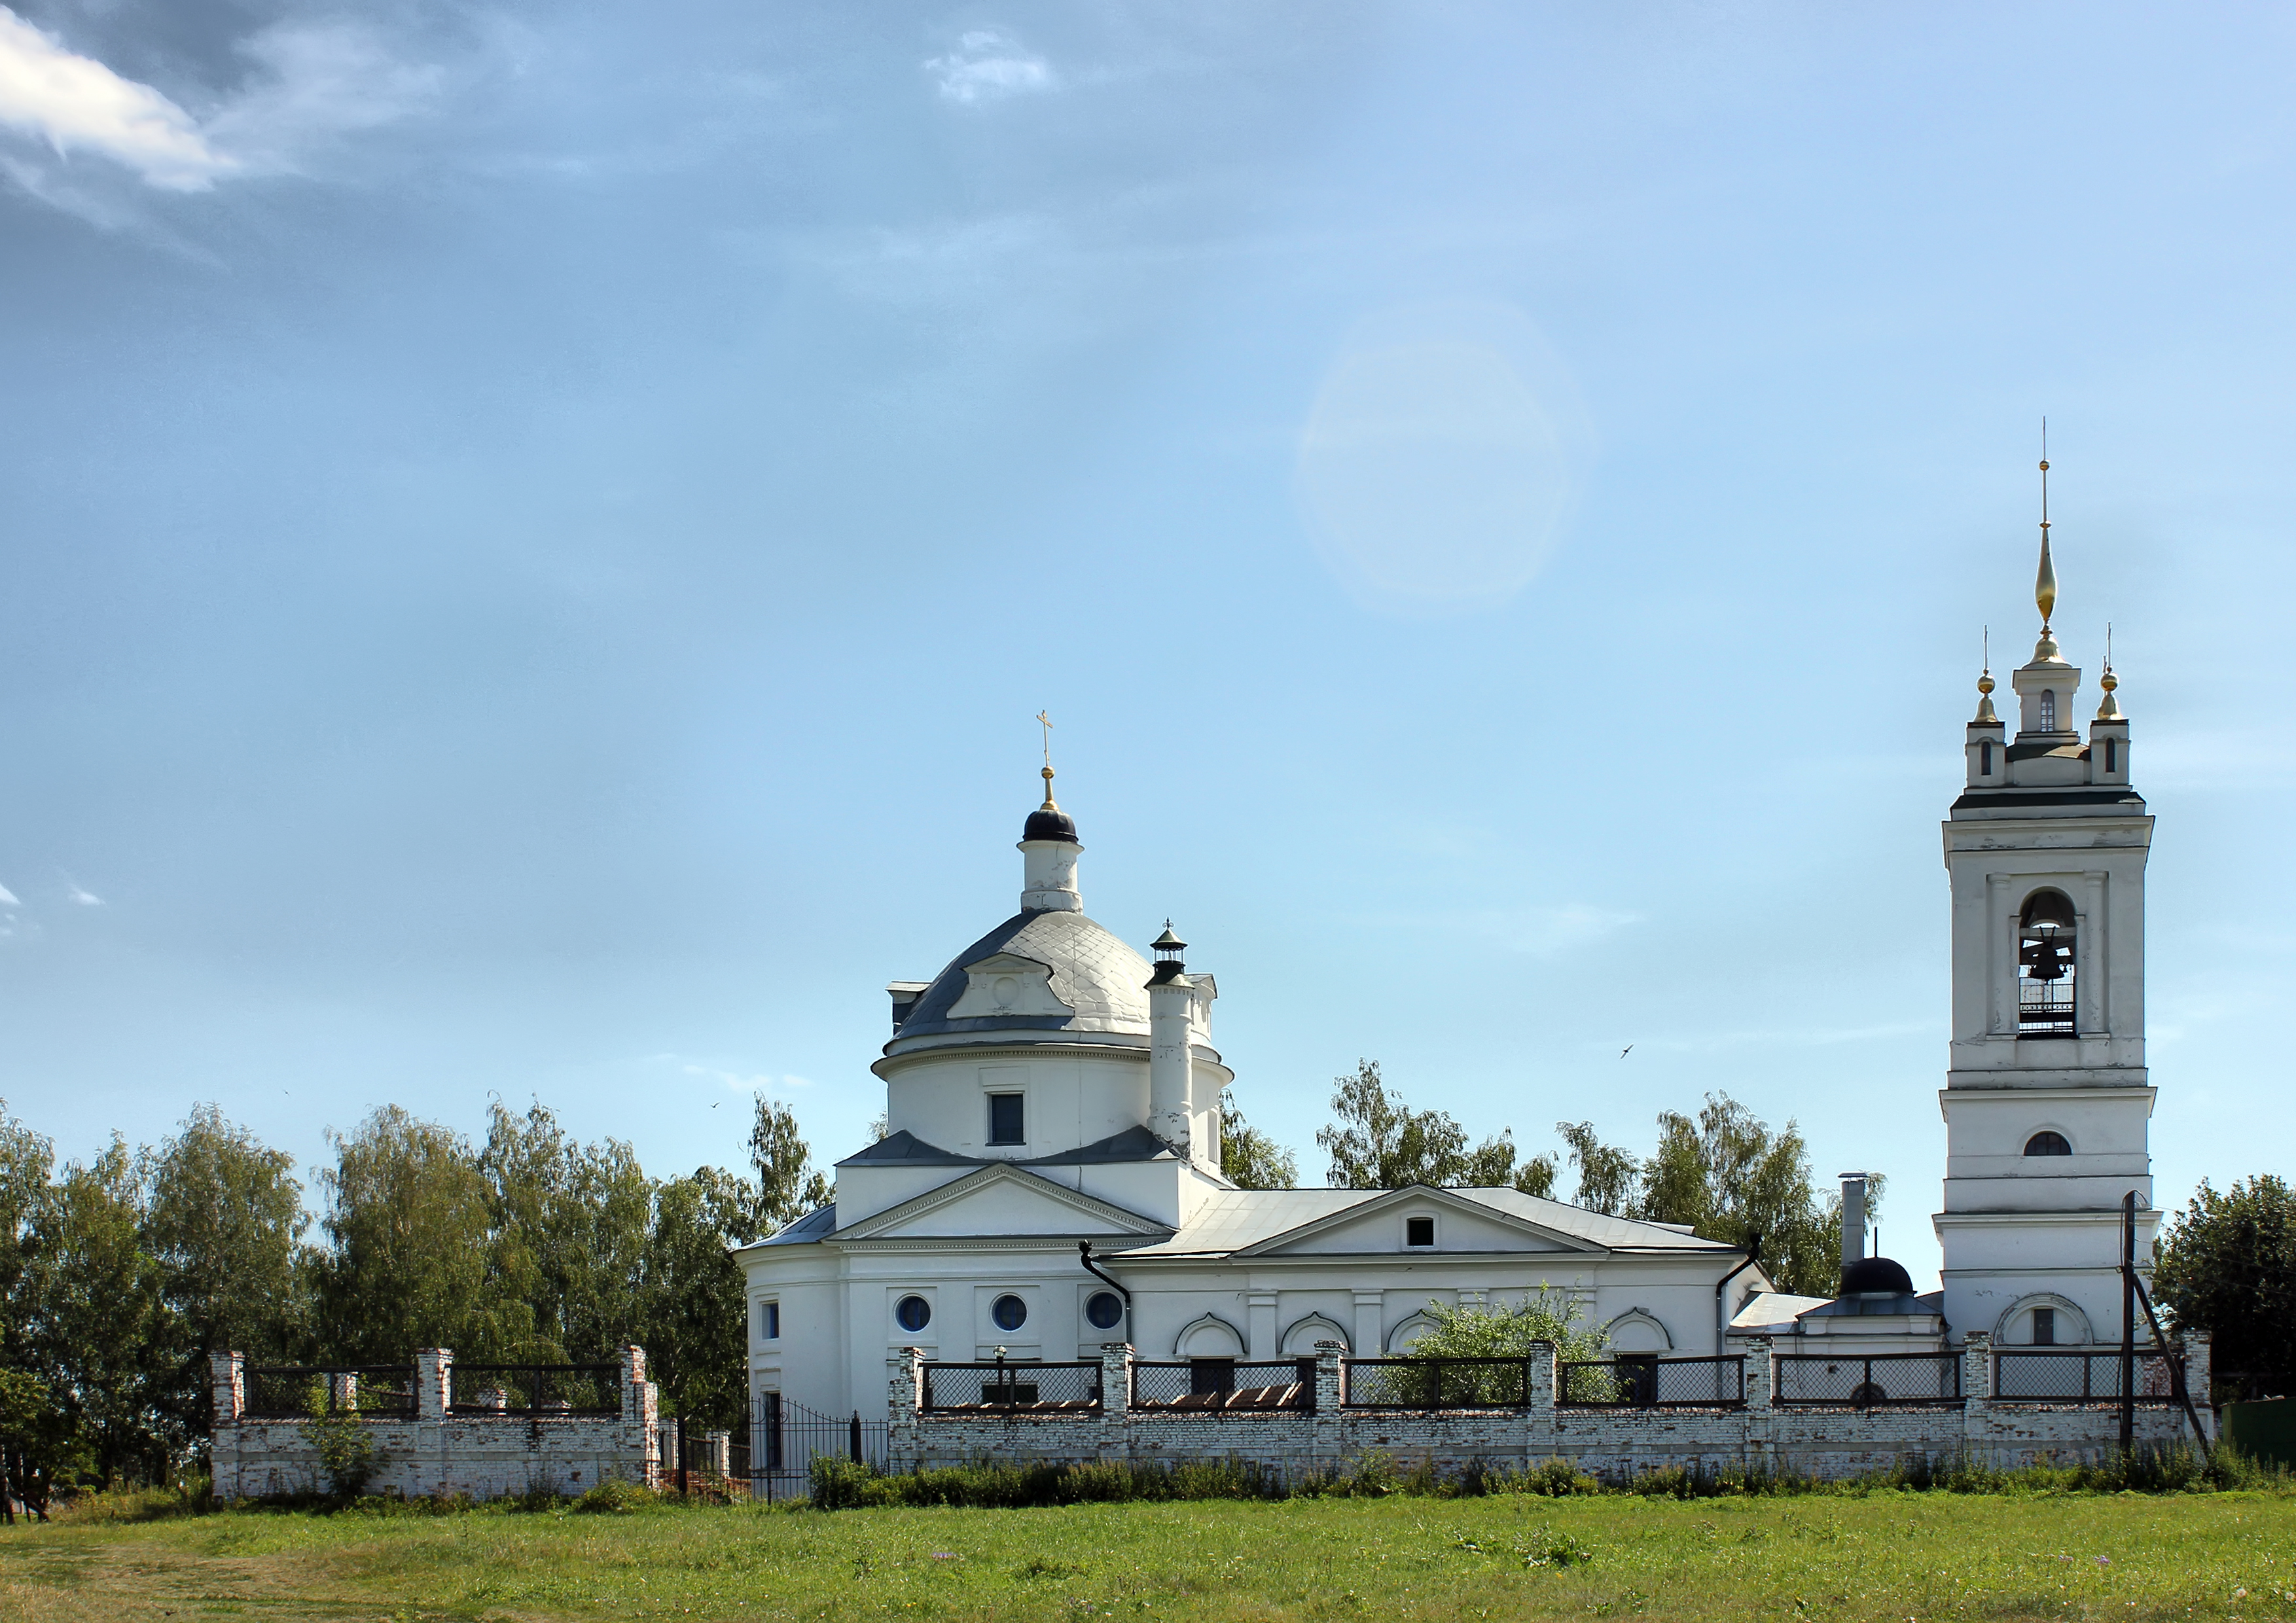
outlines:
{"label": "tall white bell tower with golden spire", "polygon": [[1965,787],[1945,820],[1954,1024],[1945,1111],[1945,1320],[2009,1345],[2119,1341],[2119,1205],[2138,1196],[2151,1256],[2144,1072],[2144,854],[2151,815],[2128,783],[2128,719],[2110,657],[2080,737],[2080,670],[2050,613],[2041,461],[2041,640],[2011,673],[2018,728],[1977,680]]}

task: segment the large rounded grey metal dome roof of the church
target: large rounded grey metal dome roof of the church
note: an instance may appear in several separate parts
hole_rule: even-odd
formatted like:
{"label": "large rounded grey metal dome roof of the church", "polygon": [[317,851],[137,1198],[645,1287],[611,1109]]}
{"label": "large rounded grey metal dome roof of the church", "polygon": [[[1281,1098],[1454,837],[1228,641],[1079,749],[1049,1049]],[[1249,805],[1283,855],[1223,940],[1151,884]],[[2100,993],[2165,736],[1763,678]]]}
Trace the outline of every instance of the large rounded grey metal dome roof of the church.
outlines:
{"label": "large rounded grey metal dome roof of the church", "polygon": [[1079,911],[1024,911],[948,960],[886,1054],[918,1038],[1033,1031],[1047,1042],[1148,1038],[1148,960]]}

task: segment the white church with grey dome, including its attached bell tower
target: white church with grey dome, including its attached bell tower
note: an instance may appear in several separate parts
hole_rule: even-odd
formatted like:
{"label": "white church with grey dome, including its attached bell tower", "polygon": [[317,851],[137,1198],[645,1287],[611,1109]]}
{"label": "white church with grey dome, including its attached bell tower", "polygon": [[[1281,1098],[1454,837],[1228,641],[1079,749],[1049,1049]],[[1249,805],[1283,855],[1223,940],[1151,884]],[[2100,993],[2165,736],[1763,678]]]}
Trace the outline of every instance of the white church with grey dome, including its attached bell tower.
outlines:
{"label": "white church with grey dome, including its attached bell tower", "polygon": [[[2046,466],[2046,464],[2043,464]],[[1238,1189],[1219,1171],[1210,976],[1164,932],[1150,964],[1084,914],[1077,824],[1052,797],[1022,831],[1019,911],[932,980],[895,980],[872,1070],[886,1136],[836,1164],[836,1198],[735,1256],[751,1391],[820,1414],[886,1410],[905,1348],[930,1359],[1352,1357],[1403,1352],[1440,1304],[1543,1288],[1619,1352],[1715,1354],[1759,1336],[1841,1352],[2105,1343],[2119,1322],[2119,1203],[2151,1253],[2144,854],[2112,698],[2087,739],[2080,670],[2048,631],[2018,668],[2018,730],[1993,677],[1945,822],[1952,1049],[1940,1095],[1942,1290],[1864,1258],[1844,1295],[1777,1295],[1759,1260],[1669,1224],[1515,1189]],[[1846,1185],[1848,1203],[1862,1182]],[[1088,1247],[1088,1251],[1086,1251]],[[1818,1343],[1816,1338],[1823,1338]]]}

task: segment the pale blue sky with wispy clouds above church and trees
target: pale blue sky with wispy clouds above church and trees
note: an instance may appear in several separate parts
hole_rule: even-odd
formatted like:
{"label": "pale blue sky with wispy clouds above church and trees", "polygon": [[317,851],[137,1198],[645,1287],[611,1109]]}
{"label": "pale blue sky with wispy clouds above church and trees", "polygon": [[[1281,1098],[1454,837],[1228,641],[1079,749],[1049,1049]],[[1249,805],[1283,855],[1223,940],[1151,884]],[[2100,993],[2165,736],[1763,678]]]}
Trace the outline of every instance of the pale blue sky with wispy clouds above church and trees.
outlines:
{"label": "pale blue sky with wispy clouds above church and trees", "polygon": [[[1979,627],[2115,624],[2163,1203],[2296,1171],[2271,7],[0,11],[0,1095],[822,1159],[1086,907],[1320,1171],[1727,1090],[1936,1267]],[[1621,1049],[1632,1054],[1621,1058]]]}

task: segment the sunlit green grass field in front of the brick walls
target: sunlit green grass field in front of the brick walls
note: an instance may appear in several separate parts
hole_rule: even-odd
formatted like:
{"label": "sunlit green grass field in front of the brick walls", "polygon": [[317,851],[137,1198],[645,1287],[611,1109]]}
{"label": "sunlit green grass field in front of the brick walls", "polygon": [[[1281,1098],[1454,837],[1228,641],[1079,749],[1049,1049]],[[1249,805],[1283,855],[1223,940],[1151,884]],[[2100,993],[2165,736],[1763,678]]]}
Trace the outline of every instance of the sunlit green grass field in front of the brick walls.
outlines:
{"label": "sunlit green grass field in front of the brick walls", "polygon": [[2296,1499],[1293,1499],[0,1529],[5,1618],[2296,1618]]}

